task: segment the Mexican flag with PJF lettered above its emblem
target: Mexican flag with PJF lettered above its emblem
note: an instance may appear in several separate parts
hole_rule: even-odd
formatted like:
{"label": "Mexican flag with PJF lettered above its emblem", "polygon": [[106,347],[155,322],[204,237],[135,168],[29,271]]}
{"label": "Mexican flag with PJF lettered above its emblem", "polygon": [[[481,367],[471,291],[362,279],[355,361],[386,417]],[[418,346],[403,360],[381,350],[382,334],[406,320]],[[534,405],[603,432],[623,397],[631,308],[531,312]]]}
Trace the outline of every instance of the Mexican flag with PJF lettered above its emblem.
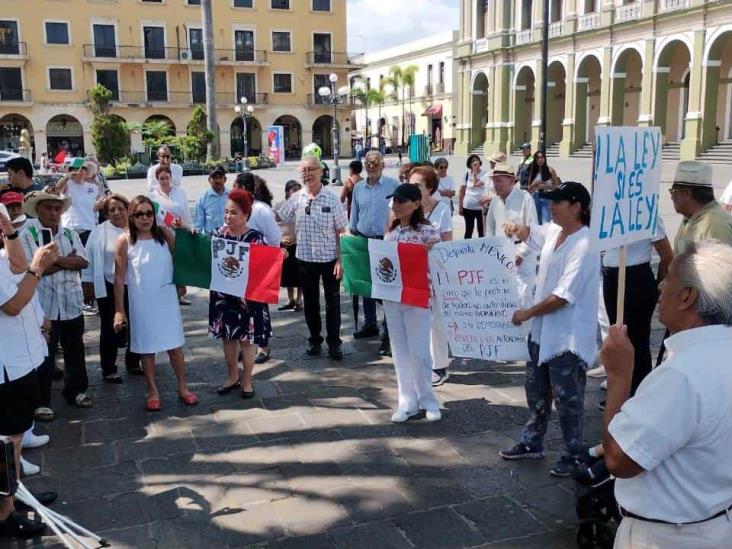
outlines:
{"label": "Mexican flag with PJF lettered above its emblem", "polygon": [[175,231],[173,280],[260,303],[277,303],[282,251],[273,246]]}

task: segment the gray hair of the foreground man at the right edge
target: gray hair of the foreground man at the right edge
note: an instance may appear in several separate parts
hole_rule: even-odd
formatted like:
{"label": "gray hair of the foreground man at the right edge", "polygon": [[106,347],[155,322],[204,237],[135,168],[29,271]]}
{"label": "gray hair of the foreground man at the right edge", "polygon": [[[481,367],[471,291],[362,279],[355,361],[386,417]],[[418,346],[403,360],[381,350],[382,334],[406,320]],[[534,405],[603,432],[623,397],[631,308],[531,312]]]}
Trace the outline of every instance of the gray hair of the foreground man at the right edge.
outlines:
{"label": "gray hair of the foreground man at the right edge", "polygon": [[732,246],[703,240],[691,244],[675,263],[681,285],[699,294],[696,311],[704,324],[732,326]]}

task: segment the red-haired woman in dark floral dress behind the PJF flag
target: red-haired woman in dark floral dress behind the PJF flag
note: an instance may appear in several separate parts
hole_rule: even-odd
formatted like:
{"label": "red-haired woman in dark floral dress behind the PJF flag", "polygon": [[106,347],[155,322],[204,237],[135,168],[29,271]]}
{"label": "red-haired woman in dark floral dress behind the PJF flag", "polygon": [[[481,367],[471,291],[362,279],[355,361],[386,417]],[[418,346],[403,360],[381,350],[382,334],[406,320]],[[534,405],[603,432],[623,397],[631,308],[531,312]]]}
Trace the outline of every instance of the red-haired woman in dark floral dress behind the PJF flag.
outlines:
{"label": "red-haired woman in dark floral dress behind the PJF flag", "polygon": [[[253,201],[249,192],[243,189],[232,190],[224,209],[225,225],[216,229],[211,238],[265,244],[262,233],[247,226]],[[228,368],[226,382],[218,388],[218,394],[225,395],[241,387],[242,398],[254,397],[252,385],[254,355],[257,345],[266,348],[269,338],[272,337],[267,304],[211,290],[208,311],[209,334],[224,341],[224,357]],[[239,379],[238,360],[240,351],[244,366],[244,375],[241,379]]]}

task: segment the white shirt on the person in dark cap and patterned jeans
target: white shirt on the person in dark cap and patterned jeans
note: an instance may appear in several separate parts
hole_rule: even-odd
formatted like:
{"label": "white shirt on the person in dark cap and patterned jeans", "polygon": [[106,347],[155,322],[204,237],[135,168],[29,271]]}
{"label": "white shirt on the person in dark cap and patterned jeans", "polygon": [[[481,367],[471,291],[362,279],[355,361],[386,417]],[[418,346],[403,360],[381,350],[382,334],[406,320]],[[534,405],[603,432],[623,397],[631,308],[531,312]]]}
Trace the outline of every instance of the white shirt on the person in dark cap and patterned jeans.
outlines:
{"label": "white shirt on the person in dark cap and patterned jeans", "polygon": [[557,248],[561,232],[555,223],[531,225],[527,244],[541,252],[534,304],[552,294],[567,302],[531,319],[531,340],[540,347],[540,365],[569,351],[589,367],[597,355],[600,254],[592,250],[587,227],[569,235]]}

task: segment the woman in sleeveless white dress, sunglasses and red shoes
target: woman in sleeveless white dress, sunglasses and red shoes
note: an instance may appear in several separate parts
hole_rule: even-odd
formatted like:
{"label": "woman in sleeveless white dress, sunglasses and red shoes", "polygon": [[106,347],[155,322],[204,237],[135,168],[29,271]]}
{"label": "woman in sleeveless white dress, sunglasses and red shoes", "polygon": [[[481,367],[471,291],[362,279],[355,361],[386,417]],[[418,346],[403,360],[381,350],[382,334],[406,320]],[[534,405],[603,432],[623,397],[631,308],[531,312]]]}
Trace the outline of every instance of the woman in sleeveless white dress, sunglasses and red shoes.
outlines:
{"label": "woman in sleeveless white dress, sunglasses and red shoes", "polygon": [[130,308],[130,350],[142,356],[148,394],[145,408],[160,410],[155,384],[155,353],[167,351],[178,379],[178,395],[187,405],[198,404],[188,390],[183,356],[183,320],[173,284],[174,235],[157,224],[152,200],[136,196],[130,202],[129,228],[117,241],[114,270],[114,329],[127,326],[125,283]]}

